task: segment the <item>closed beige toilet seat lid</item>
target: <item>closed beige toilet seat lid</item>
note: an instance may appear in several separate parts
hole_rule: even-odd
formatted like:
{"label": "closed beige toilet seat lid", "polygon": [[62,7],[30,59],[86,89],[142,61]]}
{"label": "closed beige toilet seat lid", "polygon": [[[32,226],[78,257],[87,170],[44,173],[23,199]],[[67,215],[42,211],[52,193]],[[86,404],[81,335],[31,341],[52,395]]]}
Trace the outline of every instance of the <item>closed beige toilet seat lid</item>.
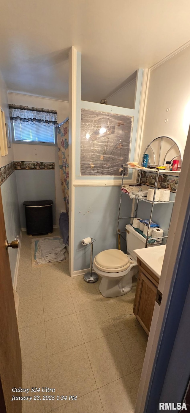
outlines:
{"label": "closed beige toilet seat lid", "polygon": [[99,252],[94,258],[95,266],[106,273],[120,273],[130,267],[127,254],[119,249],[107,249]]}

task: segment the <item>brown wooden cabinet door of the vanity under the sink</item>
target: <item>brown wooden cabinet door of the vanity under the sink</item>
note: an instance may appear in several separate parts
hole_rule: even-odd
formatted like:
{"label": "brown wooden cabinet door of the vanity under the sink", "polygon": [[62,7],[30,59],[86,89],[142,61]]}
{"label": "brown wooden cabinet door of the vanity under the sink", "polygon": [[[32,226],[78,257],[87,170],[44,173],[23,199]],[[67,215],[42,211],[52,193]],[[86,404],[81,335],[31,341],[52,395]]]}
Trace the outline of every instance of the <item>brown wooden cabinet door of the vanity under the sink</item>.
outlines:
{"label": "brown wooden cabinet door of the vanity under the sink", "polygon": [[142,271],[139,271],[133,313],[147,334],[151,327],[156,292],[157,287],[153,282]]}

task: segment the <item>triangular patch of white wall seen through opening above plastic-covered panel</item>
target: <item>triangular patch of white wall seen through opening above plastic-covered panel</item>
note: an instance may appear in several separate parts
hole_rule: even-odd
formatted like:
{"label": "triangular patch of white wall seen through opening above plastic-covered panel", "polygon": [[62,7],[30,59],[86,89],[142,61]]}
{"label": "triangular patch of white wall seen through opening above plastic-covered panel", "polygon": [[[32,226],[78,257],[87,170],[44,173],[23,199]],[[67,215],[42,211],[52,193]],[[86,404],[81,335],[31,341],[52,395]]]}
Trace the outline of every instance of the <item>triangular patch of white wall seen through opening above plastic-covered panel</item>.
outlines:
{"label": "triangular patch of white wall seen through opening above plastic-covered panel", "polygon": [[107,97],[107,103],[113,106],[134,109],[136,78],[113,95]]}

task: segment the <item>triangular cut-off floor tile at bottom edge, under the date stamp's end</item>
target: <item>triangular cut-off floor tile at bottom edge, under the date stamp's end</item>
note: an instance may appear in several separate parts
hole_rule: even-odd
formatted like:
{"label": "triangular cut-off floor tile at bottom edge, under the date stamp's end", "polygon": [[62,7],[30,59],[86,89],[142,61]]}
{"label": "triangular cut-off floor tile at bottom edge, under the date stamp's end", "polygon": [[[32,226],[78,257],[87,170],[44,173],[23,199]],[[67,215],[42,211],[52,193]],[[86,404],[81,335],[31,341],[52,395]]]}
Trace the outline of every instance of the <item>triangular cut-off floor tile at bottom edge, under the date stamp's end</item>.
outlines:
{"label": "triangular cut-off floor tile at bottom edge, under the date stamp's end", "polygon": [[98,390],[70,401],[63,406],[53,409],[53,413],[104,413]]}

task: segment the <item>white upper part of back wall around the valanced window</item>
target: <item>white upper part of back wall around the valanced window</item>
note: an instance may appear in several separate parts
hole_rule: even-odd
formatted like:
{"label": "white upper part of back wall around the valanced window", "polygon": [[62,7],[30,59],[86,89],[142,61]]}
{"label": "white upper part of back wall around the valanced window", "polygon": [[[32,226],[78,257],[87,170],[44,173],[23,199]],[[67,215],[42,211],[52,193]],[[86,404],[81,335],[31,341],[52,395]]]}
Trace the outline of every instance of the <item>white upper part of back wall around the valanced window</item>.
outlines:
{"label": "white upper part of back wall around the valanced window", "polygon": [[[61,100],[46,99],[20,93],[8,93],[9,103],[25,106],[42,107],[44,109],[54,109],[58,113],[58,123],[62,122],[69,112],[69,103]],[[55,162],[55,188],[56,188],[56,225],[59,222],[60,211],[65,211],[65,203],[60,183],[58,148],[46,145],[26,145],[15,143],[15,161],[50,161]],[[49,173],[49,171],[46,171]]]}

